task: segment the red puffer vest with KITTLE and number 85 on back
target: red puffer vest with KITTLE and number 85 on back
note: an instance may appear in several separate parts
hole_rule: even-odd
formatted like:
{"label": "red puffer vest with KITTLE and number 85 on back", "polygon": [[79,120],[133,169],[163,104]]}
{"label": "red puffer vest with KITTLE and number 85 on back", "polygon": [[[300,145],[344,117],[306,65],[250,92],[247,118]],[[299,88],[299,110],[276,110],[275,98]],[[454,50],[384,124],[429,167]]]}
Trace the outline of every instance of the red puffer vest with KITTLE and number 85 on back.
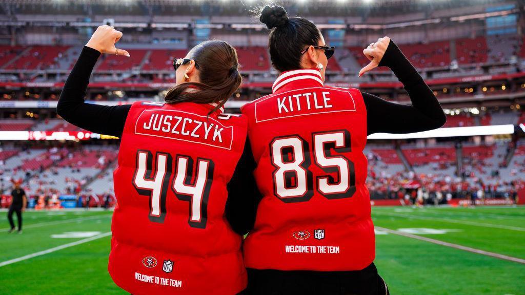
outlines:
{"label": "red puffer vest with KITTLE and number 85 on back", "polygon": [[263,196],[244,244],[246,267],[369,266],[375,237],[361,92],[323,86],[317,69],[283,72],[273,90],[241,109]]}

